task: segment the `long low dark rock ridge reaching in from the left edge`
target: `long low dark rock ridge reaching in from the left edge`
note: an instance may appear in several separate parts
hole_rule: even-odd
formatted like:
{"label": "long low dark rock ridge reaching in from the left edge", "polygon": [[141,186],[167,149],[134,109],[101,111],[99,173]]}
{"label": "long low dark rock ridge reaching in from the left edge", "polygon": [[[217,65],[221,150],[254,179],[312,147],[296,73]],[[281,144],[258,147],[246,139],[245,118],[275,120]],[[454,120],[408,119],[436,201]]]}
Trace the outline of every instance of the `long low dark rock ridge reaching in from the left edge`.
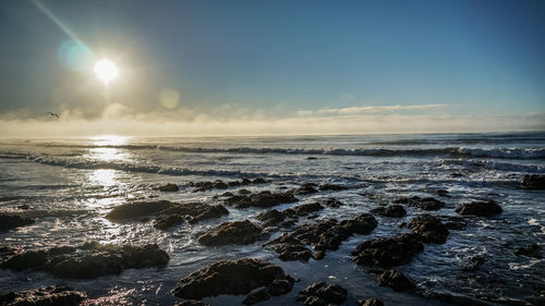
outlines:
{"label": "long low dark rock ridge reaching in from the left edge", "polygon": [[156,244],[133,246],[89,242],[77,247],[60,246],[44,250],[0,249],[3,249],[2,269],[40,270],[72,279],[96,279],[119,274],[125,269],[164,267],[170,259]]}

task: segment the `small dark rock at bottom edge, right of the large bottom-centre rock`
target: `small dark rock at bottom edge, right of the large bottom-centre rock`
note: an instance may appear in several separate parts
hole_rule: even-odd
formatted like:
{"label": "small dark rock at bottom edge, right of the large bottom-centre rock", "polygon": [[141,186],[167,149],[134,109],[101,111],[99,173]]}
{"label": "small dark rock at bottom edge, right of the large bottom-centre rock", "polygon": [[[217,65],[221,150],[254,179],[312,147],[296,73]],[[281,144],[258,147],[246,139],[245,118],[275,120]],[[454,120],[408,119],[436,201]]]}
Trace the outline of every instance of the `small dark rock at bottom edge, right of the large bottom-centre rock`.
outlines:
{"label": "small dark rock at bottom edge, right of the large bottom-centre rock", "polygon": [[347,290],[340,285],[316,282],[300,291],[298,301],[308,306],[341,305],[347,295]]}

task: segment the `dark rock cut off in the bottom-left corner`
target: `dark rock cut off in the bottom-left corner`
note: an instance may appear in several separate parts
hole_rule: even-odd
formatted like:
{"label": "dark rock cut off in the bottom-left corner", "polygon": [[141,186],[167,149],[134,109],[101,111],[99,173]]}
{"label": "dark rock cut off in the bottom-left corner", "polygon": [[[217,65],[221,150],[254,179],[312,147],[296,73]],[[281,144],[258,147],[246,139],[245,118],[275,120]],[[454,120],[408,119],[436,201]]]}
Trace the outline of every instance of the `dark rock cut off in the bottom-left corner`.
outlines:
{"label": "dark rock cut off in the bottom-left corner", "polygon": [[80,305],[86,297],[84,293],[68,286],[46,286],[35,290],[10,292],[0,295],[2,306],[53,306]]}

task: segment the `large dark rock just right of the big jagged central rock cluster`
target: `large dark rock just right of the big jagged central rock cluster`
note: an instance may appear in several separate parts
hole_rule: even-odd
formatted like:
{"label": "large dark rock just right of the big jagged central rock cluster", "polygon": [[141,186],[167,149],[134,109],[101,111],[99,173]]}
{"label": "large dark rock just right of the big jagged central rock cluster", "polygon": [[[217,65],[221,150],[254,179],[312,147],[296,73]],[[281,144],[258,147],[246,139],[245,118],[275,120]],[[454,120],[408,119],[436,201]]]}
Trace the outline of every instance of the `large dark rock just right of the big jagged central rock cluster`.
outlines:
{"label": "large dark rock just right of the big jagged central rock cluster", "polygon": [[407,265],[414,255],[424,250],[420,240],[417,234],[370,240],[361,243],[352,252],[352,259],[370,271]]}

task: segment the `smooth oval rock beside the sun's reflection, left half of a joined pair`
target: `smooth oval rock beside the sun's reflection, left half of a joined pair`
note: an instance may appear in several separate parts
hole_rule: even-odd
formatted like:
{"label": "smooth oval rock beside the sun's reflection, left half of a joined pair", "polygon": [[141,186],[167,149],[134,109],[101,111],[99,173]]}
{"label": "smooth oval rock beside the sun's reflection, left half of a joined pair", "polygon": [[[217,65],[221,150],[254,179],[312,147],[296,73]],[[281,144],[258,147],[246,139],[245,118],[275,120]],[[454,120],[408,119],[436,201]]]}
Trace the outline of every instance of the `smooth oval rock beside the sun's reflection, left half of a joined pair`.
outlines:
{"label": "smooth oval rock beside the sun's reflection, left half of a joined pair", "polygon": [[157,215],[160,211],[174,206],[174,203],[168,200],[125,203],[110,210],[110,212],[106,215],[106,219],[110,221],[137,219],[150,215]]}

